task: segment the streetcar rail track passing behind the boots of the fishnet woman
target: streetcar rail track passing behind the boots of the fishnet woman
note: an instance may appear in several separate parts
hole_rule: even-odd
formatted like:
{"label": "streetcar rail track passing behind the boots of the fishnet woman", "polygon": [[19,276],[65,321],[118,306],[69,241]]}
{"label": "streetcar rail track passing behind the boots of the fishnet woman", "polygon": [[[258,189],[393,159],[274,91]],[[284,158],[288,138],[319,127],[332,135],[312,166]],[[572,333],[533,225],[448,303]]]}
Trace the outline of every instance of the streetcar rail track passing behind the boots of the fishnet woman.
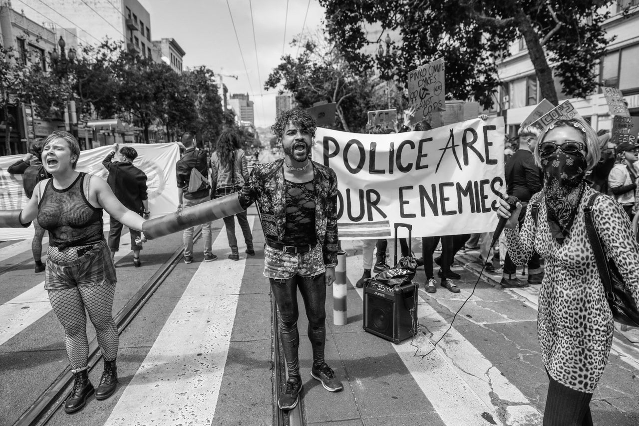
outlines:
{"label": "streetcar rail track passing behind the boots of the fishnet woman", "polygon": [[[201,228],[198,228],[193,239],[197,239],[201,235]],[[155,290],[166,280],[171,274],[173,269],[180,262],[183,248],[178,247],[173,254],[169,257],[169,260],[164,262],[162,266],[149,278],[149,280],[142,285],[142,287],[135,293],[135,295],[129,299],[127,304],[119,310],[118,314],[114,317],[116,326],[118,327],[118,335],[127,328],[128,324],[135,318],[135,315],[140,312],[144,305],[149,301]],[[100,347],[98,345],[97,338],[93,338],[89,342],[89,372],[93,370],[98,361],[102,358]],[[46,425],[49,420],[56,414],[58,409],[63,406],[66,398],[71,393],[73,382],[73,374],[68,368],[65,369],[56,377],[56,379],[49,385],[49,387],[38,397],[29,408],[22,413],[20,418],[13,423],[13,426],[42,426]]]}

